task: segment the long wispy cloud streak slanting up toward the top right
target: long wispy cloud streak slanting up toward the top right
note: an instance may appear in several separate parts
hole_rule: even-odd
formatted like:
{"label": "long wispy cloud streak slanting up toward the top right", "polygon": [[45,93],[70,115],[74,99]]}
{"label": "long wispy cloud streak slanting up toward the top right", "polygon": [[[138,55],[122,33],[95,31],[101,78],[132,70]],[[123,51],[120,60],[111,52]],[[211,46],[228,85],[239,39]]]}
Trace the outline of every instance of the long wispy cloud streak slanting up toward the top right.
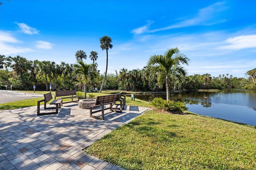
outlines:
{"label": "long wispy cloud streak slanting up toward the top right", "polygon": [[173,28],[181,28],[181,27],[188,27],[193,25],[214,25],[216,23],[221,23],[226,20],[219,19],[216,16],[218,16],[217,12],[223,11],[226,9],[226,7],[223,6],[224,2],[217,2],[215,4],[212,4],[206,8],[202,8],[199,10],[196,17],[181,21],[179,23],[176,23],[174,25],[170,25],[168,27],[163,27],[159,29],[154,29],[149,32],[157,32],[157,31],[163,31],[167,29],[173,29]]}

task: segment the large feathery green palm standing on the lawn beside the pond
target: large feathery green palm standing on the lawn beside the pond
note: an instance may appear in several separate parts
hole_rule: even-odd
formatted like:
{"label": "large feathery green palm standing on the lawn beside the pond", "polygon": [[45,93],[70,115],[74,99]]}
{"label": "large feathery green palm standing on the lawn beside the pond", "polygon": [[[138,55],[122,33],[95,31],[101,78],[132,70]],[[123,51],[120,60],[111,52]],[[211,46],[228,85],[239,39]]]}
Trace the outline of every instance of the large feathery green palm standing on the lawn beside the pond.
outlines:
{"label": "large feathery green palm standing on the lawn beside the pond", "polygon": [[170,100],[169,79],[177,74],[186,75],[186,70],[180,66],[181,64],[188,65],[189,59],[181,54],[179,49],[169,49],[164,55],[153,55],[150,57],[147,70],[148,74],[152,72],[158,75],[158,84],[166,85],[166,100]]}

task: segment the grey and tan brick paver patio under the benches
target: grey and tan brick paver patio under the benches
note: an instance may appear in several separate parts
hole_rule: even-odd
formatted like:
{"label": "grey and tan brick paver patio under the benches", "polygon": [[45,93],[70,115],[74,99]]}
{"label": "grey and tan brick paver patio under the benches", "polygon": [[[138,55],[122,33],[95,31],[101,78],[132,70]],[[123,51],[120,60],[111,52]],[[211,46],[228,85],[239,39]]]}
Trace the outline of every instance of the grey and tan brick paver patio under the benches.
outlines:
{"label": "grey and tan brick paver patio under the benches", "polygon": [[91,118],[90,110],[76,103],[63,104],[58,115],[37,116],[36,106],[0,111],[0,170],[122,169],[82,149],[148,109],[105,110],[104,121]]}

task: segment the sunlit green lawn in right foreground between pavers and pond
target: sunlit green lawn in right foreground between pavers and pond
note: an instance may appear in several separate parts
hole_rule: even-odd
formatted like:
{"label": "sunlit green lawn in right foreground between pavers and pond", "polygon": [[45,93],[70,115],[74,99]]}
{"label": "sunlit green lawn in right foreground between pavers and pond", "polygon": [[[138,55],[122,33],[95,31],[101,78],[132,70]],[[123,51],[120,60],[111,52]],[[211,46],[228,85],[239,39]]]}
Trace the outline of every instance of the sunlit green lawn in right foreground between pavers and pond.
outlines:
{"label": "sunlit green lawn in right foreground between pavers and pond", "polygon": [[256,169],[256,128],[147,111],[86,152],[129,170]]}

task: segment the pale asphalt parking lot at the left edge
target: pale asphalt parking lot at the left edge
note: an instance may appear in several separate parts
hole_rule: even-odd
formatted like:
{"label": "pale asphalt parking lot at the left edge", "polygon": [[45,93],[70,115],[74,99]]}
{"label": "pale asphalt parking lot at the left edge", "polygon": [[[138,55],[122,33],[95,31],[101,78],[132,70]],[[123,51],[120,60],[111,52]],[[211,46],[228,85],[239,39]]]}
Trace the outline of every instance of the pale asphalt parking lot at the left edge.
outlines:
{"label": "pale asphalt parking lot at the left edge", "polygon": [[15,102],[19,100],[42,98],[44,95],[15,92],[11,90],[0,90],[0,104],[7,102]]}

